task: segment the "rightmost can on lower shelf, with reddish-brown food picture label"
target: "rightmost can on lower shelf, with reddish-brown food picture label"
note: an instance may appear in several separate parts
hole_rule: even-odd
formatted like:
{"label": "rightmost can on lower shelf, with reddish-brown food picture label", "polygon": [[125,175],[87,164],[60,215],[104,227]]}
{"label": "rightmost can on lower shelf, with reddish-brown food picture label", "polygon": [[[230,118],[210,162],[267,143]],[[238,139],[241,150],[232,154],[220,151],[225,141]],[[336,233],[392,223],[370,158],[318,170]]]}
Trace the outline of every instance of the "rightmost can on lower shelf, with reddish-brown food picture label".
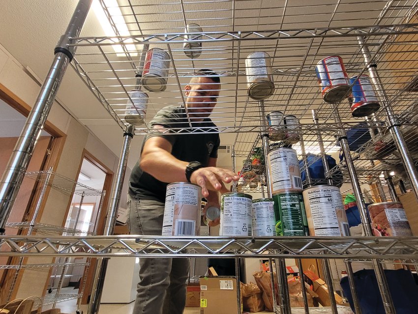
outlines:
{"label": "rightmost can on lower shelf, with reddish-brown food picture label", "polygon": [[412,236],[411,226],[400,202],[383,202],[367,206],[375,236]]}

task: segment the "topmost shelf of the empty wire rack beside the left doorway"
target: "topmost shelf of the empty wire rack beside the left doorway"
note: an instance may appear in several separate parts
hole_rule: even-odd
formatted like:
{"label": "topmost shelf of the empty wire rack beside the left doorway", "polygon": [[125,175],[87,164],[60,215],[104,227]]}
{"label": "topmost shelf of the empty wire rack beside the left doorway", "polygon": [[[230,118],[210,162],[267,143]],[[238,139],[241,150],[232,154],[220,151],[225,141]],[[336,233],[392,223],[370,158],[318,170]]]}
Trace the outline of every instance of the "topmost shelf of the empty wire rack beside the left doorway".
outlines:
{"label": "topmost shelf of the empty wire rack beside the left doorway", "polygon": [[[39,182],[44,182],[47,178],[47,175],[48,171],[28,171],[25,173],[26,177]],[[52,172],[51,179],[48,185],[67,194],[74,193],[77,195],[82,195],[84,193],[85,196],[102,195],[102,192],[95,188],[90,188],[84,184],[71,180],[67,177],[61,176],[60,174],[55,172]]]}

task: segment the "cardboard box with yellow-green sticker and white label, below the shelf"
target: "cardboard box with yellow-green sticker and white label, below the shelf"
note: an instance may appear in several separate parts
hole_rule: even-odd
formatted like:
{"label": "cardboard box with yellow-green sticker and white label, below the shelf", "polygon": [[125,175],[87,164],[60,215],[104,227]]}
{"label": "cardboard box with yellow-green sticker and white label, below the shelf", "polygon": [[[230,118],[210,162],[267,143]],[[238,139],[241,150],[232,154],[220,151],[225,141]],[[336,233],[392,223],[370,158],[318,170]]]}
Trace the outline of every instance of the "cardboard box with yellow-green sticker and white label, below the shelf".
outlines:
{"label": "cardboard box with yellow-green sticker and white label, below the shelf", "polygon": [[237,279],[232,276],[201,277],[200,314],[236,314]]}

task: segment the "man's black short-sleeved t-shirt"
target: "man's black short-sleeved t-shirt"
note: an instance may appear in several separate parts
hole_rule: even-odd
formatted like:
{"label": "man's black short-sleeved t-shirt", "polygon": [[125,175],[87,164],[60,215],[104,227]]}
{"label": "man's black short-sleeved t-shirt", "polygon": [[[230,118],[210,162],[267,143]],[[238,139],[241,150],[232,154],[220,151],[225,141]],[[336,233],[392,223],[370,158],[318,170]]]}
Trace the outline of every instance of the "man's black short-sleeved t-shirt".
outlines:
{"label": "man's black short-sleeved t-shirt", "polygon": [[[181,128],[190,130],[187,120],[186,112],[183,106],[167,106],[158,111],[154,119],[151,121],[151,126],[160,125],[167,128]],[[213,128],[211,131],[217,131],[216,126],[209,118],[204,119],[199,125],[193,124],[194,129],[199,126]],[[152,136],[161,136],[168,140],[173,146],[171,154],[182,161],[199,161],[205,166],[208,165],[209,157],[218,157],[219,134],[206,133],[196,129],[193,133],[187,130],[181,131],[183,134],[150,134],[142,143],[141,153],[144,149],[144,144],[147,139]],[[184,134],[185,133],[185,134]],[[164,171],[164,169],[161,169]],[[161,182],[149,173],[144,172],[139,166],[139,161],[132,169],[129,178],[129,195],[132,197],[139,197],[143,199],[152,199],[160,202],[165,202],[165,194],[167,183]]]}

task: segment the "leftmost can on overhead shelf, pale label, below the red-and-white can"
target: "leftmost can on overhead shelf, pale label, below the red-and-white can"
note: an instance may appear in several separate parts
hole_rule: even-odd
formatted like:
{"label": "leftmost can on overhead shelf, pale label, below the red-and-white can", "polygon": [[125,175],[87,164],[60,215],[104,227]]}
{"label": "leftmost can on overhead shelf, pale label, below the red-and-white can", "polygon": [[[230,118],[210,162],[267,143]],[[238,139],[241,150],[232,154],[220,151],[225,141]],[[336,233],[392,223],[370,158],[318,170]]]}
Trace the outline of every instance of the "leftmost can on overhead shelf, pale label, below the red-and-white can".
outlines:
{"label": "leftmost can on overhead shelf, pale label, below the red-and-white can", "polygon": [[123,119],[131,125],[139,126],[144,123],[147,113],[148,94],[140,90],[132,90],[128,94],[131,99],[127,101]]}

